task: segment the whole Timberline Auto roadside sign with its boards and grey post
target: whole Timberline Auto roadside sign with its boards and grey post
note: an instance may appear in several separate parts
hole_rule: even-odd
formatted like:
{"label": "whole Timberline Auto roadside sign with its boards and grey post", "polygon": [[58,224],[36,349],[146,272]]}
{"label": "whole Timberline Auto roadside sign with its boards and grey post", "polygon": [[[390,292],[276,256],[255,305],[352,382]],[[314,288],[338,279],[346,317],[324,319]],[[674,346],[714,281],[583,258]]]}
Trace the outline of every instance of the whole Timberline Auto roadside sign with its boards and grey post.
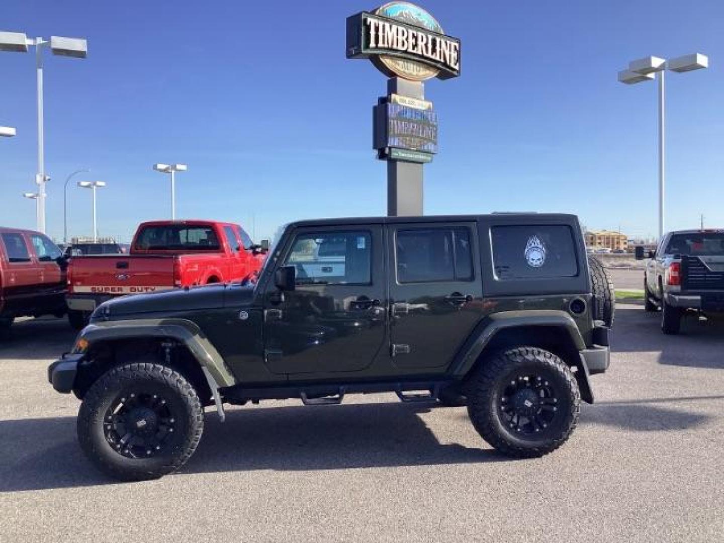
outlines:
{"label": "whole Timberline Auto roadside sign with its boards and grey post", "polygon": [[423,214],[423,165],[437,153],[437,114],[424,81],[460,75],[460,40],[409,1],[347,17],[348,59],[370,59],[390,79],[373,108],[373,148],[387,161],[387,216]]}

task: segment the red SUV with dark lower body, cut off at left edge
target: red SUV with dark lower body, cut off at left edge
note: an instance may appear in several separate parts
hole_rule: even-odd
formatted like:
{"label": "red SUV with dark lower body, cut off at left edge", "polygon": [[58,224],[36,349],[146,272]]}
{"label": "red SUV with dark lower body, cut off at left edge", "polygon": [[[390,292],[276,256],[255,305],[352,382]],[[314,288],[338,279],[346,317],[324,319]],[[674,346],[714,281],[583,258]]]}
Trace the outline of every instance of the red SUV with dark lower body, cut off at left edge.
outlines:
{"label": "red SUV with dark lower body, cut off at left edge", "polygon": [[33,230],[0,228],[0,331],[18,316],[63,316],[65,271],[60,249]]}

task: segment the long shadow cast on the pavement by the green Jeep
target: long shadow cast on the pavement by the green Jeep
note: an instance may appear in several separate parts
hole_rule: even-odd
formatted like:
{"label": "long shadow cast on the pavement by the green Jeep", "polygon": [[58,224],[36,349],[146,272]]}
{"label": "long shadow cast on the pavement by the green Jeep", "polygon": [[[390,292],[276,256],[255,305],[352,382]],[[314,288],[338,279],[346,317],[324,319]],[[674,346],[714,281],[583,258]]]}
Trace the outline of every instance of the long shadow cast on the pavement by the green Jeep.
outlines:
{"label": "long shadow cast on the pavement by the green Jeep", "polygon": [[[689,429],[709,416],[651,403],[722,400],[670,398],[584,406],[581,425],[618,426],[636,432]],[[361,403],[333,407],[248,407],[219,421],[206,413],[198,450],[181,473],[310,471],[516,461],[498,455],[474,434],[475,447],[441,443],[418,415],[434,404]],[[447,421],[470,424],[463,408]],[[447,416],[447,413],[442,415]],[[439,420],[438,420],[439,422]],[[443,423],[445,420],[443,420]],[[75,417],[0,421],[0,492],[113,484],[80,451]],[[521,460],[525,461],[525,460]]]}

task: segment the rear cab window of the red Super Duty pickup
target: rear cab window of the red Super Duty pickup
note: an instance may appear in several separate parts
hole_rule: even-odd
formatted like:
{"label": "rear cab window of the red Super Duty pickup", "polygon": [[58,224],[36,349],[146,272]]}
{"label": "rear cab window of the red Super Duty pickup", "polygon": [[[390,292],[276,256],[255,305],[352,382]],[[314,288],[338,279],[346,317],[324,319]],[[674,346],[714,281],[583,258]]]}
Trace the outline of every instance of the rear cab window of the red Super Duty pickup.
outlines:
{"label": "rear cab window of the red Super Duty pickup", "polygon": [[219,238],[212,227],[186,224],[144,227],[134,246],[138,251],[218,251],[219,248]]}

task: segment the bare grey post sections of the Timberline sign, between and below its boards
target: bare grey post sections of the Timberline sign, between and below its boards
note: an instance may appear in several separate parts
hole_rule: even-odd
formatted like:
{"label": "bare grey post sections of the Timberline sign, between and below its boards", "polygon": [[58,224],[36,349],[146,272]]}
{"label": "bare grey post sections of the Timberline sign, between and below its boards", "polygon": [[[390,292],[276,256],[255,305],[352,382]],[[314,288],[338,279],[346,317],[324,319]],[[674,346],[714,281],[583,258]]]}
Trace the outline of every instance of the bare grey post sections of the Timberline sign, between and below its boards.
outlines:
{"label": "bare grey post sections of the Timberline sign, between and below its boards", "polygon": [[[424,100],[425,85],[401,77],[387,80],[387,94]],[[423,211],[422,164],[387,160],[387,216],[417,216]]]}

